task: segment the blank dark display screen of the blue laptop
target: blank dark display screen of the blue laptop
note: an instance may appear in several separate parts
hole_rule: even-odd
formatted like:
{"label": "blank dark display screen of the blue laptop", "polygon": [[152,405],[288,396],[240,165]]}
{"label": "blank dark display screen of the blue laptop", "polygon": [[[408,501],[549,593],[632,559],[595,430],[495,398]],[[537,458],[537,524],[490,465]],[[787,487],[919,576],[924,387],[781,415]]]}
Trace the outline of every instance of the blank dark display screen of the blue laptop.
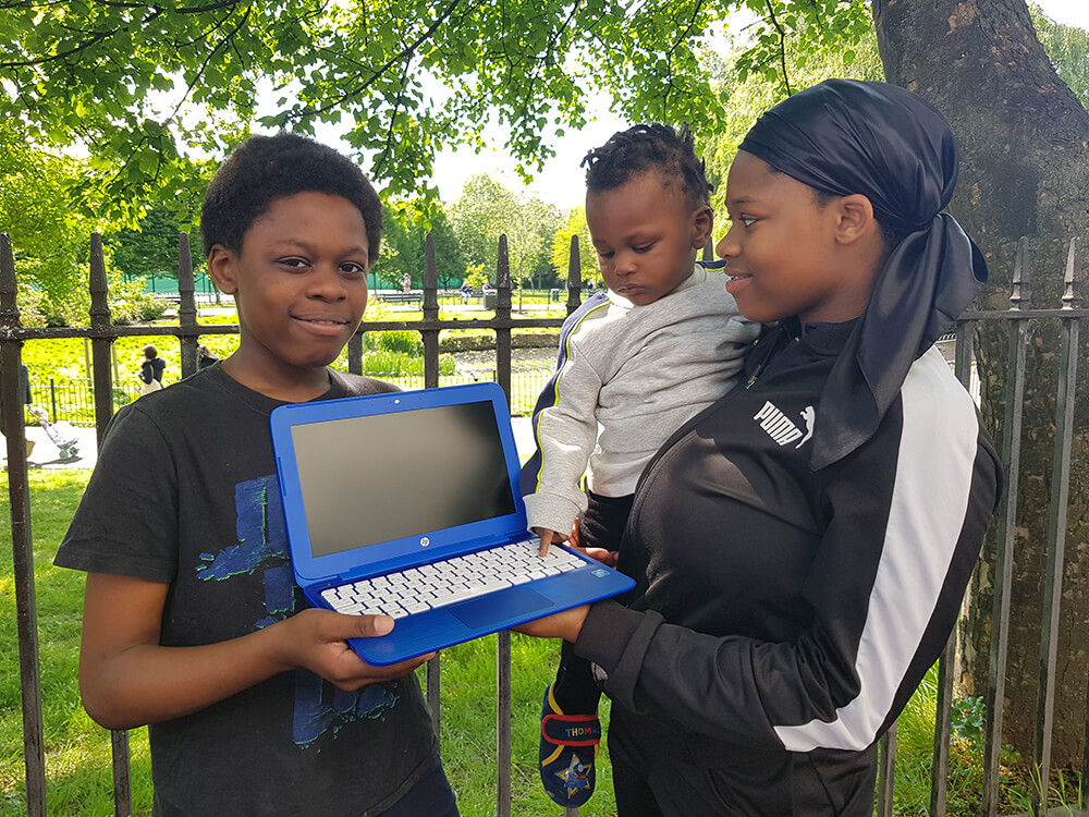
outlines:
{"label": "blank dark display screen of the blue laptop", "polygon": [[315,558],[516,512],[488,401],[292,426]]}

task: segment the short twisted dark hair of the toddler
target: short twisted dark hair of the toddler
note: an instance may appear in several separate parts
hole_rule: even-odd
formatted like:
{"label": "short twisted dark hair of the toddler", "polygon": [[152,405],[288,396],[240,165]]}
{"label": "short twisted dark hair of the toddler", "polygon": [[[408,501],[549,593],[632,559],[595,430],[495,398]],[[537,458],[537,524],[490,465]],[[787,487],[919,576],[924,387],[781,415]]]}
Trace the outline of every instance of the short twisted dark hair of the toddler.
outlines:
{"label": "short twisted dark hair of the toddler", "polygon": [[586,168],[588,192],[615,190],[637,175],[657,170],[664,187],[681,179],[693,209],[710,202],[711,185],[687,124],[673,130],[652,122],[619,131],[604,145],[590,150],[579,167]]}

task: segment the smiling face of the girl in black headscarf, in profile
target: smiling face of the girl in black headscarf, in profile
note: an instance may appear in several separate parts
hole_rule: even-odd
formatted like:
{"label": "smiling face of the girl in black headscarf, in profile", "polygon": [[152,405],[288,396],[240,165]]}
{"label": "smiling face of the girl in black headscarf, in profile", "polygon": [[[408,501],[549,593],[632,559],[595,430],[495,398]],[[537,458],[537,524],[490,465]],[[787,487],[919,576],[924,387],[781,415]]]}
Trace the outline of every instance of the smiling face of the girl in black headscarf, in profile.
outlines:
{"label": "smiling face of the girl in black headscarf, in profile", "polygon": [[726,290],[746,318],[839,324],[862,314],[874,269],[844,244],[837,199],[819,204],[812,187],[741,150],[726,210],[732,223],[715,252],[729,261]]}

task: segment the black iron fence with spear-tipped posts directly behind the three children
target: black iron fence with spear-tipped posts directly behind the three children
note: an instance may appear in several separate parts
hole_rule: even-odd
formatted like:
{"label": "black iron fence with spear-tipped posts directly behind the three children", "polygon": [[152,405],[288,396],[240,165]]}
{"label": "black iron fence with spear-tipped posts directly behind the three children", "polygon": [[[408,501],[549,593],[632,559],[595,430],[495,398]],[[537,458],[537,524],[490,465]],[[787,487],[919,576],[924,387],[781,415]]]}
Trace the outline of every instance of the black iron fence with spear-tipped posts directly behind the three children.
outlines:
{"label": "black iron fence with spear-tipped posts directly behind the three children", "polygon": [[[512,397],[511,336],[514,329],[554,328],[562,324],[558,318],[512,317],[512,288],[506,256],[505,239],[501,239],[497,264],[497,292],[494,293],[494,316],[474,320],[440,320],[439,288],[436,278],[435,249],[430,239],[427,242],[426,269],[424,288],[418,292],[419,308],[423,312],[420,320],[367,321],[360,328],[360,333],[348,344],[348,369],[354,373],[362,370],[363,342],[362,334],[370,331],[412,330],[420,333],[424,345],[424,374],[418,382],[408,383],[420,388],[433,388],[442,381],[439,373],[439,333],[444,329],[487,329],[495,336],[495,369],[494,379],[506,391],[509,400]],[[1040,702],[1041,718],[1038,723],[1038,740],[1031,763],[1037,768],[1040,779],[1047,781],[1051,765],[1052,712],[1055,694],[1055,671],[1057,667],[1056,645],[1059,643],[1059,606],[1062,598],[1062,576],[1064,560],[1064,539],[1066,534],[1066,515],[1069,501],[1070,452],[1074,428],[1075,387],[1077,380],[1077,359],[1079,329],[1082,321],[1089,318],[1089,309],[1080,308],[1074,293],[1075,248],[1072,243],[1069,260],[1065,272],[1065,294],[1062,304],[1051,309],[1023,308],[1026,300],[1027,256],[1018,254],[1017,267],[1014,273],[1014,291],[1011,306],[1005,310],[971,312],[962,316],[956,325],[954,345],[954,368],[966,387],[972,385],[975,328],[979,325],[1005,324],[1010,332],[1010,357],[1007,369],[1007,388],[1005,394],[1005,422],[1001,444],[1003,463],[1007,474],[1005,500],[994,524],[998,527],[999,541],[995,563],[988,565],[996,576],[994,615],[992,621],[990,647],[990,678],[984,695],[987,707],[987,749],[983,768],[982,814],[992,817],[998,814],[998,792],[1002,735],[1002,715],[1004,700],[1004,678],[1006,670],[1006,638],[1010,632],[1011,610],[1011,565],[1014,558],[1015,520],[1017,520],[1017,484],[1020,470],[1020,450],[1023,437],[1023,398],[1025,393],[1025,354],[1030,321],[1051,321],[1059,325],[1060,345],[1059,371],[1055,385],[1055,454],[1053,470],[1053,490],[1050,514],[1050,536],[1048,542],[1045,598],[1043,599],[1044,620],[1042,622]],[[8,470],[9,499],[11,516],[11,534],[13,547],[14,586],[16,608],[19,613],[19,655],[20,680],[23,707],[24,756],[26,777],[27,814],[39,817],[46,814],[46,765],[42,736],[42,703],[41,680],[38,663],[38,632],[36,623],[33,542],[29,529],[29,508],[32,497],[27,485],[26,462],[20,453],[25,439],[22,424],[23,407],[17,398],[21,364],[21,349],[24,343],[51,338],[87,338],[91,345],[91,389],[86,399],[93,404],[95,426],[98,439],[106,424],[112,416],[118,404],[131,399],[127,391],[119,392],[119,387],[112,381],[110,351],[113,341],[127,336],[167,336],[176,339],[182,355],[182,376],[196,371],[197,344],[201,336],[237,333],[236,325],[200,325],[197,320],[196,300],[194,296],[193,270],[188,266],[188,236],[183,234],[181,241],[181,269],[179,273],[179,320],[176,325],[154,327],[118,327],[110,322],[110,310],[107,305],[106,269],[100,237],[96,234],[91,241],[90,257],[90,326],[87,328],[44,328],[28,329],[20,325],[16,304],[15,273],[12,248],[7,234],[0,233],[0,389],[8,398],[4,400],[5,427],[11,430],[8,437]],[[566,309],[570,314],[580,303],[582,273],[578,257],[578,246],[572,241],[571,260],[568,265],[568,284],[566,292]],[[491,304],[488,304],[490,306]],[[539,387],[538,387],[539,388]],[[60,404],[57,402],[59,391],[39,385],[35,391],[35,400],[47,406],[54,418],[59,418]],[[1042,509],[1040,512],[1044,512]],[[933,744],[933,767],[931,780],[931,804],[929,814],[944,815],[946,813],[949,748],[951,740],[951,711],[953,703],[952,667],[957,658],[957,639],[951,638],[945,655],[940,662],[939,694],[937,706],[935,733]],[[495,764],[498,783],[495,792],[495,808],[500,817],[511,815],[511,643],[507,633],[500,633],[498,639],[498,672],[497,672],[497,746]],[[432,718],[438,727],[440,711],[440,673],[439,658],[427,667],[427,698],[431,706]],[[7,671],[7,668],[4,668]],[[880,742],[881,772],[878,783],[877,808],[880,815],[893,813],[893,761],[895,757],[895,727]],[[130,815],[132,803],[130,796],[129,743],[126,732],[112,734],[114,801],[118,815]],[[1089,781],[1089,760],[1084,764],[1082,780]],[[1079,803],[1080,808],[1085,804]],[[1048,806],[1047,785],[1038,793],[1033,810],[1045,810]],[[567,809],[575,814],[575,809]]]}

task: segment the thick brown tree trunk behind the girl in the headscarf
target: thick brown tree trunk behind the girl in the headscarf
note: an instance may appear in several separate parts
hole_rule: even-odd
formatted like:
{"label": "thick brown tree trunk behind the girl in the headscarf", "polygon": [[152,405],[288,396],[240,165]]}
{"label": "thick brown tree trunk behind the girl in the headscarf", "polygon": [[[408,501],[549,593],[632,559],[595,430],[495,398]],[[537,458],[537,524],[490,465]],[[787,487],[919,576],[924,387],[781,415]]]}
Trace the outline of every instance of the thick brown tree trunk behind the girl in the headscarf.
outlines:
{"label": "thick brown tree trunk behind the girl in the headscarf", "polygon": [[[1059,80],[1025,0],[873,0],[873,19],[889,82],[927,98],[957,135],[960,176],[950,210],[987,256],[991,280],[979,307],[1008,306],[1021,236],[1029,239],[1033,259],[1031,305],[1060,306],[1069,240],[1082,242],[1081,273],[1089,252],[1089,113]],[[999,444],[1008,330],[992,324],[978,333],[977,365],[984,420]],[[1002,735],[1026,760],[1036,743],[1059,353],[1056,327],[1037,326],[1029,336]],[[1084,353],[1078,368],[1085,383]],[[1078,392],[1052,765],[1080,769],[1089,655],[1089,417],[1086,389]],[[965,666],[957,679],[965,695],[987,688],[993,527],[970,589]]]}

